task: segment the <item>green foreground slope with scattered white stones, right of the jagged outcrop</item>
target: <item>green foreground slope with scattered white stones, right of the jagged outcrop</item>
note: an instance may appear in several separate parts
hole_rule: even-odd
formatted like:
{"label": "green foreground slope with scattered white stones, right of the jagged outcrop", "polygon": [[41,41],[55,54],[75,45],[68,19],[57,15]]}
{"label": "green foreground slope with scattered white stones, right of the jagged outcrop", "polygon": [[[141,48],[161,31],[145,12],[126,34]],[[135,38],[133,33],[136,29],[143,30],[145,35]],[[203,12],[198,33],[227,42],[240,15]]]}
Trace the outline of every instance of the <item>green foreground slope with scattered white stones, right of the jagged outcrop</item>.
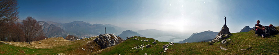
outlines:
{"label": "green foreground slope with scattered white stones, right of the jagged outcrop", "polygon": [[[279,29],[279,27],[276,27]],[[132,40],[133,38],[138,38],[139,40]],[[192,55],[192,54],[203,54],[203,55],[243,55],[243,54],[264,54],[264,55],[278,55],[279,54],[279,35],[272,35],[266,38],[260,36],[255,36],[254,31],[250,32],[240,32],[232,33],[232,36],[228,39],[226,44],[219,44],[220,42],[210,45],[206,43],[184,43],[175,45],[170,45],[166,52],[163,52],[162,46],[168,44],[168,42],[157,42],[156,44],[151,43],[153,39],[145,37],[133,37],[124,41],[116,46],[104,49],[103,52],[98,53],[98,55],[143,55],[147,53],[148,55]],[[150,42],[142,42],[141,39],[151,40]],[[149,48],[132,49],[135,46],[141,44],[151,44],[153,46]],[[222,50],[220,46],[228,49]],[[247,49],[247,50],[241,50]],[[160,53],[163,52],[163,53]]]}

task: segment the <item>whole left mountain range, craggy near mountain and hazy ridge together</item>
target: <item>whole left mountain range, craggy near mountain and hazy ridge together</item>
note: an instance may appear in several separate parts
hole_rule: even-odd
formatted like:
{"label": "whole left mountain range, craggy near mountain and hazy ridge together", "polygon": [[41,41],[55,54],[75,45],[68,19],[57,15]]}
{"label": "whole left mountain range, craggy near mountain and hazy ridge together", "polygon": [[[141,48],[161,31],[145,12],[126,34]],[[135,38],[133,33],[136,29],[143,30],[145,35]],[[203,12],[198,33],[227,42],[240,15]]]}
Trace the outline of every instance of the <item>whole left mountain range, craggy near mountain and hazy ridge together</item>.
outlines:
{"label": "whole left mountain range, craggy near mountain and hazy ridge together", "polygon": [[79,38],[91,37],[106,33],[120,34],[125,28],[120,28],[111,24],[90,24],[83,21],[73,21],[70,23],[57,23],[52,21],[38,21],[47,37],[66,37],[74,35]]}

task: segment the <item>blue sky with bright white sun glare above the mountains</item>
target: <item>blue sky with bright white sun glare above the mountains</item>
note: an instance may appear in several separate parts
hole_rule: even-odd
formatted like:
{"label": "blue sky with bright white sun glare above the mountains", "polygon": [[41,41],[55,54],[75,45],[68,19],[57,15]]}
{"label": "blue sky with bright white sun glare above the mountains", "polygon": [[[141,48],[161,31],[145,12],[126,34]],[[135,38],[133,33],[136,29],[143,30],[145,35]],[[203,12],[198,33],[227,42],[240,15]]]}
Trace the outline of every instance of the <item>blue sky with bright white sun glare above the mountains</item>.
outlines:
{"label": "blue sky with bright white sun glare above the mountains", "polygon": [[[19,16],[37,21],[84,21],[130,29],[157,29],[188,34],[232,33],[245,26],[279,26],[279,0],[19,0]],[[136,31],[136,30],[135,30]]]}

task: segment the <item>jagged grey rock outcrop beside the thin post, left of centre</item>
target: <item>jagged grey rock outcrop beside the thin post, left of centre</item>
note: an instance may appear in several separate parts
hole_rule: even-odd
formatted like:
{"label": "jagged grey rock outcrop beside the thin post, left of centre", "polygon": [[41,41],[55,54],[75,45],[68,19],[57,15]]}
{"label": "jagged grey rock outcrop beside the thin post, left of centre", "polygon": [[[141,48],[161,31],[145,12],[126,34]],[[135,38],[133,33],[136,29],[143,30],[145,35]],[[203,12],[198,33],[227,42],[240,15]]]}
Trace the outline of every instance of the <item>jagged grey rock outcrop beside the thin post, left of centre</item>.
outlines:
{"label": "jagged grey rock outcrop beside the thin post, left of centre", "polygon": [[114,34],[101,34],[99,37],[96,37],[94,41],[101,46],[101,49],[105,49],[107,47],[119,44],[124,40],[121,37],[115,36]]}

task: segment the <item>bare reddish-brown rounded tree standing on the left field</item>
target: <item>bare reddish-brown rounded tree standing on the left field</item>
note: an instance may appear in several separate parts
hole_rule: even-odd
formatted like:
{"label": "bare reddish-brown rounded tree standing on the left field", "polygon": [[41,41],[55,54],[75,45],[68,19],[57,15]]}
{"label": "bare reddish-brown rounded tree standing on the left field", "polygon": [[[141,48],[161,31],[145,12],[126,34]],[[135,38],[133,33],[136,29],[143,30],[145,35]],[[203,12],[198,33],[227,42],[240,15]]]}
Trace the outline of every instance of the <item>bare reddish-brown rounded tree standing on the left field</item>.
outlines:
{"label": "bare reddish-brown rounded tree standing on the left field", "polygon": [[39,36],[44,36],[42,25],[37,23],[36,19],[33,19],[31,16],[28,16],[25,20],[22,21],[20,28],[24,32],[25,41],[28,44],[32,44],[34,38]]}

